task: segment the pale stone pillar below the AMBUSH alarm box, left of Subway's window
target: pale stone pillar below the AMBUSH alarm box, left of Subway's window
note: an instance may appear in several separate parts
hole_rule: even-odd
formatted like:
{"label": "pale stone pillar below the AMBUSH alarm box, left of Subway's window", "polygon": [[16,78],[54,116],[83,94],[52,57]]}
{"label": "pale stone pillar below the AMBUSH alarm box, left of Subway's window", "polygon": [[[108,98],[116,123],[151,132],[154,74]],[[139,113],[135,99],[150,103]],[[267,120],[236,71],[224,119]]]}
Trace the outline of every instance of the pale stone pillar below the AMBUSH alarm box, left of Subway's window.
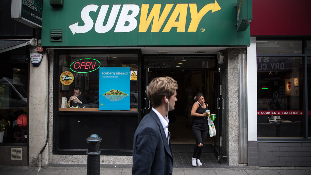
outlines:
{"label": "pale stone pillar below the AMBUSH alarm box, left of Subway's window", "polygon": [[[37,53],[36,50],[37,48],[32,48],[30,53]],[[49,97],[47,54],[43,53],[39,67],[34,67],[30,61],[29,69],[29,165],[38,166],[41,160],[41,164],[46,165],[47,151],[42,152],[41,160],[38,160],[38,157],[47,138]]]}

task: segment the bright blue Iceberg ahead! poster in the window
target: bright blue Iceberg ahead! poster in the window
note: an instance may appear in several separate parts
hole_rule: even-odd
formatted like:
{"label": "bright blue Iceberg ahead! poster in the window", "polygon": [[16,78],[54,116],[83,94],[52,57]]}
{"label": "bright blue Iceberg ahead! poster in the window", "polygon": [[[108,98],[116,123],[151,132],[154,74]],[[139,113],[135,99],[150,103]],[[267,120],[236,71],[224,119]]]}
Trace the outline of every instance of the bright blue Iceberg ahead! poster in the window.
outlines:
{"label": "bright blue Iceberg ahead! poster in the window", "polygon": [[130,110],[130,67],[100,67],[99,109]]}

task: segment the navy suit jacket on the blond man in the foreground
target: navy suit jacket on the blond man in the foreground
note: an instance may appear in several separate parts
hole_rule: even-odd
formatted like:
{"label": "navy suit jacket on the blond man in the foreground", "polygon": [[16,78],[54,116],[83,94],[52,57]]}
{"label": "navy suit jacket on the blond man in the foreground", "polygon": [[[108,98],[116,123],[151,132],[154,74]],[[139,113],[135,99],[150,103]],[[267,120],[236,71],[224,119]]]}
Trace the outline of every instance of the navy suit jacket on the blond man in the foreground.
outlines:
{"label": "navy suit jacket on the blond man in the foreground", "polygon": [[156,113],[151,110],[139,123],[133,143],[132,174],[172,174],[172,145]]}

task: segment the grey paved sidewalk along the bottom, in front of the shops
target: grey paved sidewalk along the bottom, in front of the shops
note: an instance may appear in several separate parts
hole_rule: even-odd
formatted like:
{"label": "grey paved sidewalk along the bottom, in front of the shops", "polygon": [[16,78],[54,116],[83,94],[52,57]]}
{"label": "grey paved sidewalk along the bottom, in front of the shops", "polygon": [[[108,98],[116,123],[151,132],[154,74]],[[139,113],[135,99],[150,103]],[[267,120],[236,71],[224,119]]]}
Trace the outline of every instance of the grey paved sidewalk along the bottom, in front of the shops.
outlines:
{"label": "grey paved sidewalk along the bottom, in front of the shops", "polygon": [[[132,174],[132,168],[100,168],[100,174]],[[38,167],[0,166],[0,173],[5,175],[77,175],[86,174],[86,167]],[[292,175],[311,174],[311,167],[246,167],[230,168],[173,168],[173,175]]]}

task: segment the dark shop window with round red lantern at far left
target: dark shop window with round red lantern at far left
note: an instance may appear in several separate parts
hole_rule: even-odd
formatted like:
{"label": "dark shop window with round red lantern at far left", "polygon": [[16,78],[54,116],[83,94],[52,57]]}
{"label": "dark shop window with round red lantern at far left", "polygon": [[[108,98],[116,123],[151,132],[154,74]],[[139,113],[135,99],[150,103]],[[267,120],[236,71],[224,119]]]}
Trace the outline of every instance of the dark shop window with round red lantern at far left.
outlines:
{"label": "dark shop window with round red lantern at far left", "polygon": [[[6,58],[10,58],[10,54],[8,56]],[[0,130],[5,131],[3,143],[27,142],[28,65],[28,62],[0,62]],[[4,126],[3,122],[7,125]]]}

